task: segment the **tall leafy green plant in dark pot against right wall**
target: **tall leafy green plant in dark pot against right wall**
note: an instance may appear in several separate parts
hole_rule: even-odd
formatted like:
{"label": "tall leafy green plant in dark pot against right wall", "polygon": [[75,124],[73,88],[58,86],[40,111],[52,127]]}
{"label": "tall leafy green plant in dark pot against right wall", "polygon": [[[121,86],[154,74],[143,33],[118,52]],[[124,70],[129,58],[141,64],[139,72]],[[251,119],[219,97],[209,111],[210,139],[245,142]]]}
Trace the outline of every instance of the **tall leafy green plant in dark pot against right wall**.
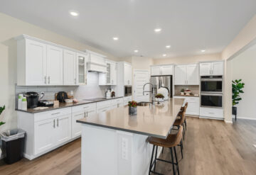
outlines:
{"label": "tall leafy green plant in dark pot against right wall", "polygon": [[242,89],[245,87],[245,84],[241,82],[242,79],[235,79],[235,81],[232,81],[232,114],[235,115],[235,120],[236,120],[236,115],[238,113],[237,105],[239,101],[242,100],[240,97],[240,93],[244,93]]}

